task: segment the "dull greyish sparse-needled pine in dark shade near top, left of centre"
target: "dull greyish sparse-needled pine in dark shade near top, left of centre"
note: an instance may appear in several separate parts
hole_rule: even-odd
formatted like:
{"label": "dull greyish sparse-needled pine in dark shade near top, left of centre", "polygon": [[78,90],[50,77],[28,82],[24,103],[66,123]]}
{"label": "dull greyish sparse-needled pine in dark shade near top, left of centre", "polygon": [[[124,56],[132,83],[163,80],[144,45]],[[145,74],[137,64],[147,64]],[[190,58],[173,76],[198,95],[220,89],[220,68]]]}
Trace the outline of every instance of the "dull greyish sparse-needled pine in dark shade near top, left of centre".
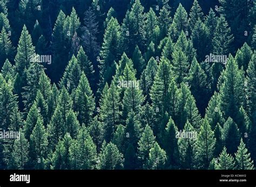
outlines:
{"label": "dull greyish sparse-needled pine in dark shade near top, left of centre", "polygon": [[[83,47],[90,60],[93,60],[99,54],[99,44],[97,41],[98,21],[96,15],[90,7],[84,13],[84,27],[83,27]],[[94,61],[94,60],[93,60]]]}

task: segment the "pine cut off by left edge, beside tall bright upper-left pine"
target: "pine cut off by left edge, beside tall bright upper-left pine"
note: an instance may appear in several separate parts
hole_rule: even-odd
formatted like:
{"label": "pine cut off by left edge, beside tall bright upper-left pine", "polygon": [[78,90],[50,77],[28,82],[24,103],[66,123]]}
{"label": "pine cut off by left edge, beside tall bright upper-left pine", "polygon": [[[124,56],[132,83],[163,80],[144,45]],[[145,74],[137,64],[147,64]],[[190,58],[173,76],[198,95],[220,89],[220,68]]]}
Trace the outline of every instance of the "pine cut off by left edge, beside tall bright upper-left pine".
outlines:
{"label": "pine cut off by left edge, beside tall bright upper-left pine", "polygon": [[8,33],[2,28],[0,33],[0,68],[2,68],[6,59],[14,60],[15,48],[12,46]]}

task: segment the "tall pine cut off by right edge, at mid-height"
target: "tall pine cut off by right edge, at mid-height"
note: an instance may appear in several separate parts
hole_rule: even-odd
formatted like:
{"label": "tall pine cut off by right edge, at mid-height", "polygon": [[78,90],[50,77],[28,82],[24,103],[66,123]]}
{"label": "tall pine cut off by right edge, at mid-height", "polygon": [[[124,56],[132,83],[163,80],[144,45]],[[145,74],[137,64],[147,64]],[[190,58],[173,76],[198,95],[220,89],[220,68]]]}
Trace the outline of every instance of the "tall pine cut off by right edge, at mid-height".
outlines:
{"label": "tall pine cut off by right edge, at mid-height", "polygon": [[247,69],[247,105],[249,109],[249,116],[252,122],[256,122],[256,52],[254,51],[252,60],[249,62]]}

